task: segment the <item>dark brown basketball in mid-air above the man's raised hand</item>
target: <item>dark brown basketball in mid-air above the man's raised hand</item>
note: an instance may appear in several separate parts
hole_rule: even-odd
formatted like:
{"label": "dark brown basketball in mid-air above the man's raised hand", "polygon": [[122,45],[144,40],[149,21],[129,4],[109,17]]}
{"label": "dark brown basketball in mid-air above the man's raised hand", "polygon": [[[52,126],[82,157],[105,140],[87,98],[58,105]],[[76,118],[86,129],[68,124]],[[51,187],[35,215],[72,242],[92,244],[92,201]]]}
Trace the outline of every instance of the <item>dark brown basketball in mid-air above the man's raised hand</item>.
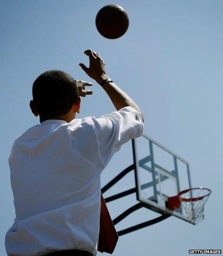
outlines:
{"label": "dark brown basketball in mid-air above the man's raised hand", "polygon": [[108,39],[117,39],[124,35],[129,25],[129,18],[123,7],[109,4],[101,8],[96,16],[99,33]]}

